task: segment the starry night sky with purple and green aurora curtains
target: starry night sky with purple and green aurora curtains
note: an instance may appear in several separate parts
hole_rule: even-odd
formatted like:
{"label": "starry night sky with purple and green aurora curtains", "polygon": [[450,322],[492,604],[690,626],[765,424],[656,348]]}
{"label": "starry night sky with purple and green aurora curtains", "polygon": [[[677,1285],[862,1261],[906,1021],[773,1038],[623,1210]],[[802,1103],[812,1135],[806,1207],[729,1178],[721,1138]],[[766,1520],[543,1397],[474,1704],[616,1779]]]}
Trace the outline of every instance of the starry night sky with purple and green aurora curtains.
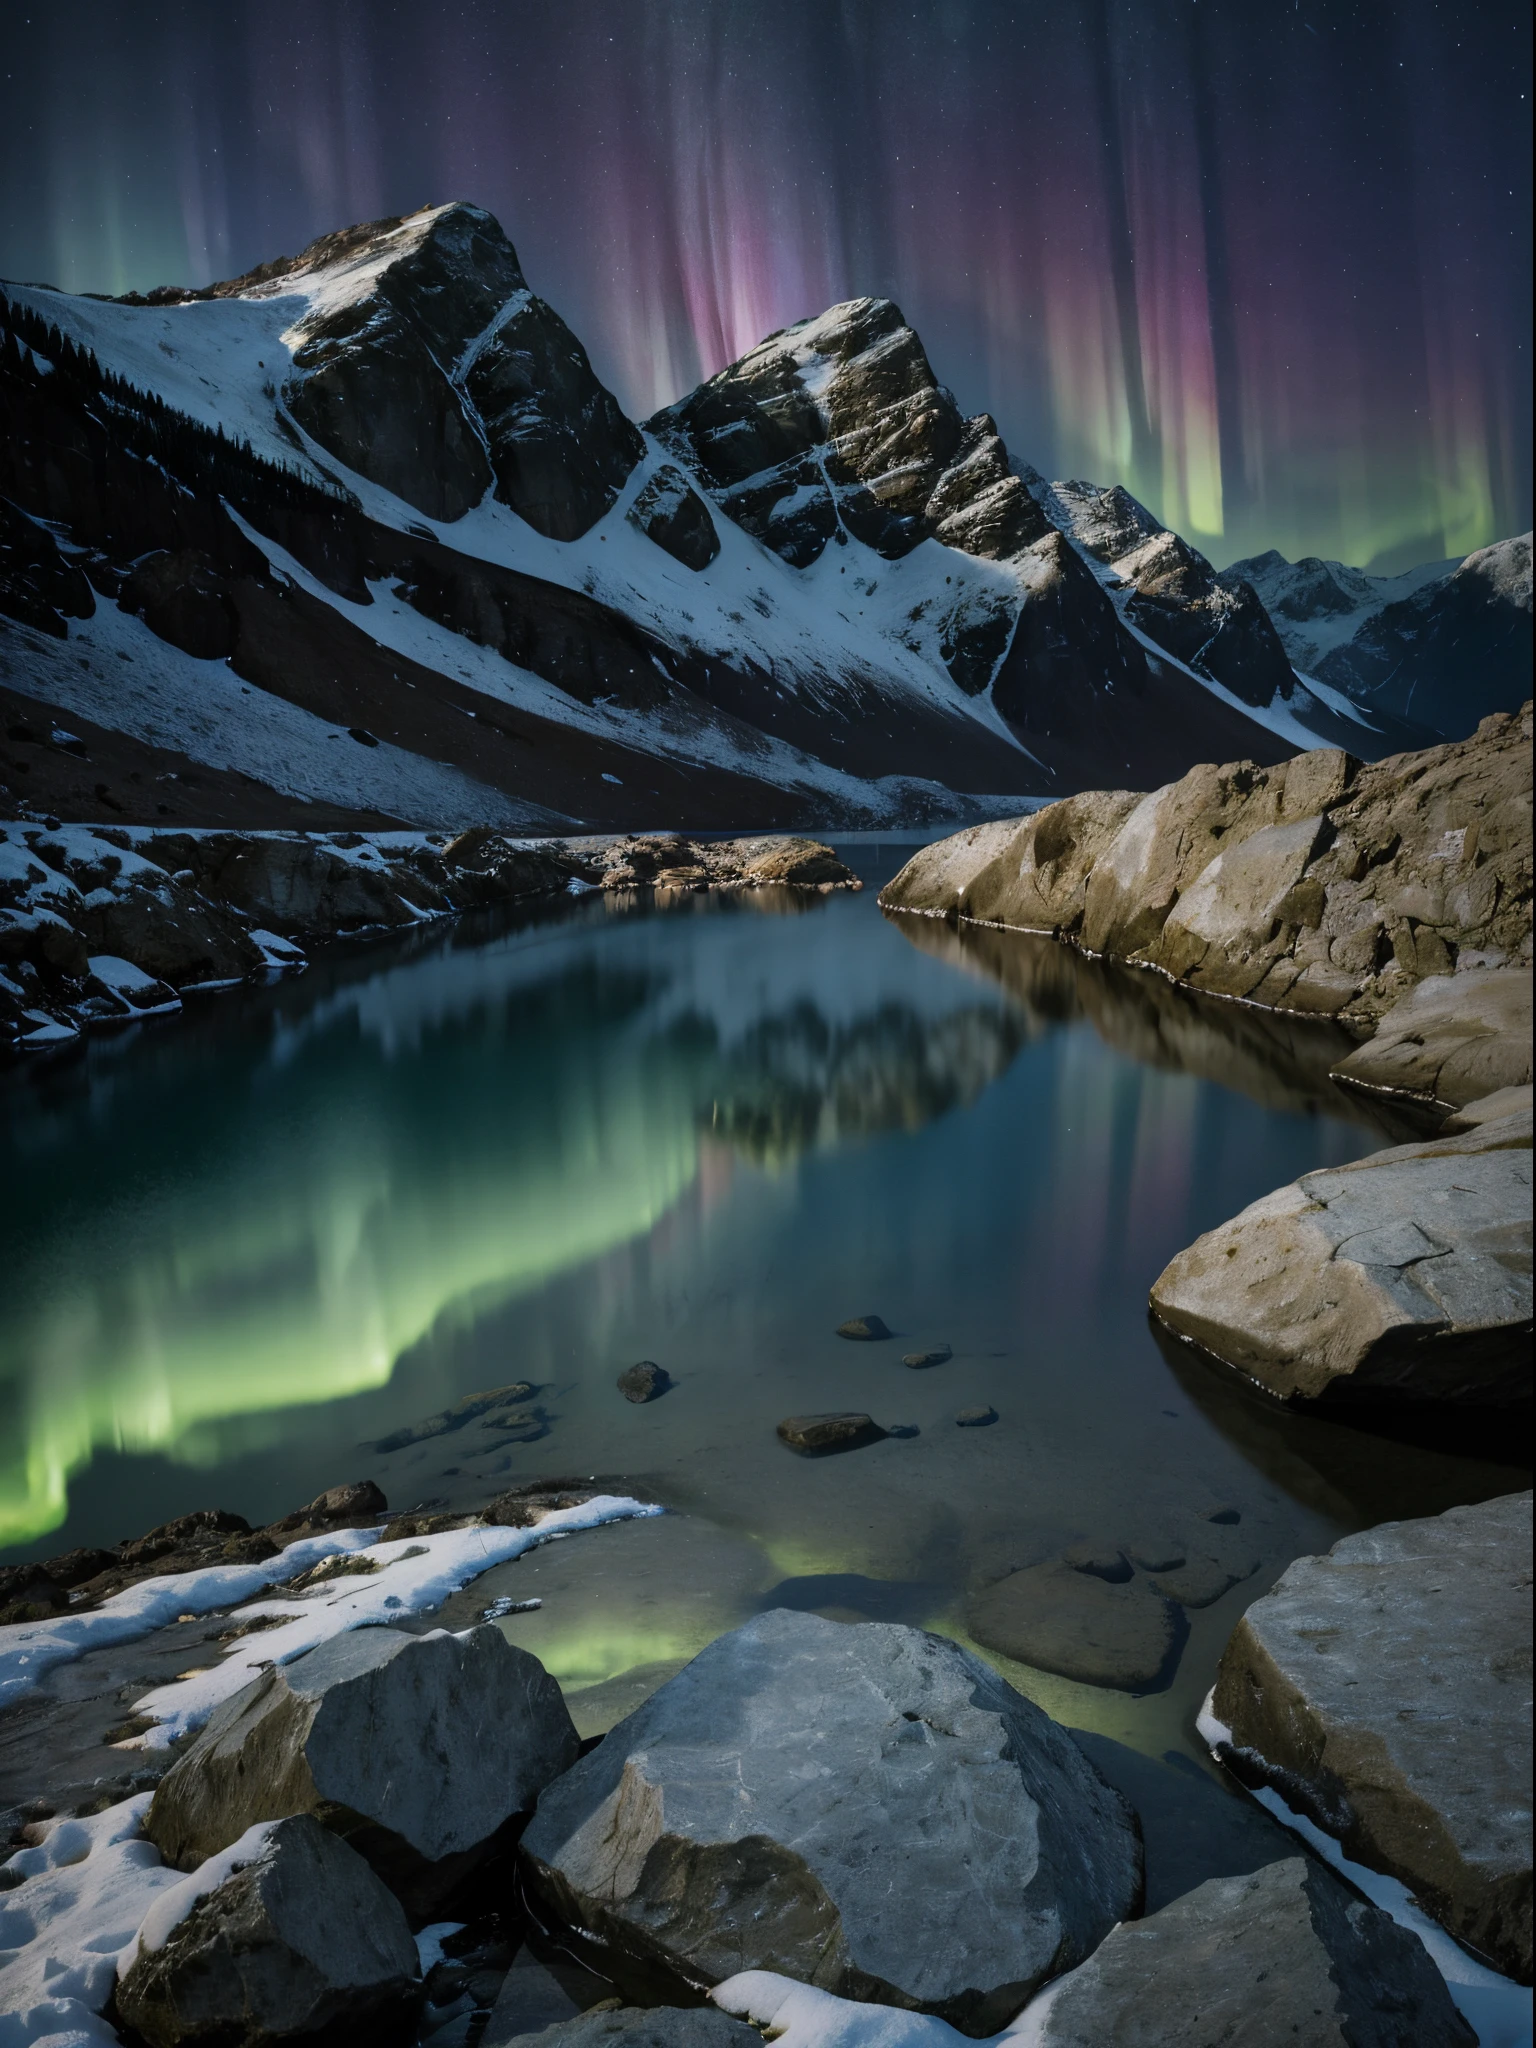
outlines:
{"label": "starry night sky with purple and green aurora curtains", "polygon": [[[29,18],[31,16],[31,18]],[[1530,8],[8,0],[0,274],[207,283],[473,199],[647,414],[887,293],[1217,561],[1530,526]]]}

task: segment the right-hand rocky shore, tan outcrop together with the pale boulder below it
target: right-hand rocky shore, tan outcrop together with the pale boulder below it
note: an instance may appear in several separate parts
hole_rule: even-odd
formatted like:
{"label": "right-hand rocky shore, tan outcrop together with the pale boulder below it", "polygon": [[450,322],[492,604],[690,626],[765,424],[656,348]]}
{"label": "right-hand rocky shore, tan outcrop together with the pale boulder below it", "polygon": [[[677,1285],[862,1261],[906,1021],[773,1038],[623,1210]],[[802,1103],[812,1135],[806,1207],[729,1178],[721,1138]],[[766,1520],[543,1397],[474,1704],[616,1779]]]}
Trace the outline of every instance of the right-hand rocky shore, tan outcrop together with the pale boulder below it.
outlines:
{"label": "right-hand rocky shore, tan outcrop together with the pale boulder below it", "polygon": [[1440,1133],[1303,1176],[1153,1284],[1169,1331],[1286,1401],[1530,1407],[1530,737],[1526,705],[1372,766],[1325,748],[1090,791],[940,840],[881,891],[1346,1024],[1331,1083]]}

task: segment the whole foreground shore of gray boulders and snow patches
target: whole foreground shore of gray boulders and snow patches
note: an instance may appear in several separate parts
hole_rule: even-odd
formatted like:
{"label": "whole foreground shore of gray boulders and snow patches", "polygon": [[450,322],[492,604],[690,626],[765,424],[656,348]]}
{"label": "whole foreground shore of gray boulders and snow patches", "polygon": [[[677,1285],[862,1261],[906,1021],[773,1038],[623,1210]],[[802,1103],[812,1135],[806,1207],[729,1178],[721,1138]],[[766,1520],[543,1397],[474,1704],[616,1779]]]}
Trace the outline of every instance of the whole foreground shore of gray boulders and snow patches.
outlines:
{"label": "whole foreground shore of gray boulders and snow patches", "polygon": [[[1530,1982],[1530,1495],[1298,1559],[1210,1708],[1241,1784],[1315,1817],[1348,1872],[1411,1886],[1456,1937],[1440,1966],[1300,1845],[1143,1917],[1133,1806],[944,1636],[768,1610],[584,1743],[494,1620],[432,1626],[492,1536],[512,1556],[655,1511],[545,1483],[391,1518],[360,1481],[268,1530],[207,1511],[119,1546],[74,1610],[188,1602],[219,1655],[109,1731],[135,1772],[8,1815],[16,2038],[729,2048],[745,2019],[805,2048],[897,2023],[918,2048],[999,2028],[1217,2048],[1257,1976],[1276,2038],[1470,2044],[1458,2007],[1507,2021]],[[252,1563],[283,1575],[266,1597],[219,1577]],[[23,1630],[0,1634],[12,1663]],[[1470,1712],[1450,1749],[1425,1718],[1446,1700]]]}

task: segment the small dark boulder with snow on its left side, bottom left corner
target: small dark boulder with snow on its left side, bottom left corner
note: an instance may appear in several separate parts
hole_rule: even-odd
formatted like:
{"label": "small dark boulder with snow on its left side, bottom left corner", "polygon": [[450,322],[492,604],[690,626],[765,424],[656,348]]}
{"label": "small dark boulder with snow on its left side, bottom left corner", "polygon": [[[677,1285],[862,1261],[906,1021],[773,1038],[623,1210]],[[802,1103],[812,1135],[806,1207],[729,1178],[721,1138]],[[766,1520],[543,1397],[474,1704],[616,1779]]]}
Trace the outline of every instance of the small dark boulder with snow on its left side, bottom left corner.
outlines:
{"label": "small dark boulder with snow on its left side, bottom left corner", "polygon": [[156,1917],[117,1987],[117,2017],[150,2048],[317,2038],[385,2048],[414,2034],[418,1960],[406,1913],[309,1815],[279,1821],[168,1931]]}

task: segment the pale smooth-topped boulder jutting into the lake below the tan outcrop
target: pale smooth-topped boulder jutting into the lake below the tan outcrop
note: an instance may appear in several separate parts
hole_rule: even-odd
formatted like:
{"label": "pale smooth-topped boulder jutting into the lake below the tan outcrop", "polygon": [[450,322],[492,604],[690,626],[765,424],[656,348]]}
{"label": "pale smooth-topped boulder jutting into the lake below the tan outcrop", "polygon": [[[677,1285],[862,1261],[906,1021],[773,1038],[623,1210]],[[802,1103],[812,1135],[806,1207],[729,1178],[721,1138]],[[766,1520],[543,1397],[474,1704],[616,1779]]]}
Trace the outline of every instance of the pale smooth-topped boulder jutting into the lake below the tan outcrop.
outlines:
{"label": "pale smooth-topped boulder jutting into the lake below the tan outcrop", "polygon": [[1153,1311],[1282,1399],[1530,1401],[1530,1135],[1303,1174],[1180,1251]]}

